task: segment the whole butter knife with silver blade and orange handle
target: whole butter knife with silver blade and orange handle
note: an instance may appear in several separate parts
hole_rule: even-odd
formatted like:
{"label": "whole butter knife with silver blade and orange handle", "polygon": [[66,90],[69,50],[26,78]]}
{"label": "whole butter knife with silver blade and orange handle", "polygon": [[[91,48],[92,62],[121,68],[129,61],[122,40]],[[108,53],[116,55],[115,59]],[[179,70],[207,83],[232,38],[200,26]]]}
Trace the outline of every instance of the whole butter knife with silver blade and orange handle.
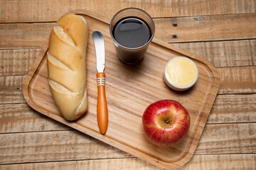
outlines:
{"label": "whole butter knife with silver blade and orange handle", "polygon": [[105,93],[105,44],[102,33],[95,31],[92,33],[92,40],[95,45],[97,62],[97,123],[102,135],[107,132],[108,111]]}

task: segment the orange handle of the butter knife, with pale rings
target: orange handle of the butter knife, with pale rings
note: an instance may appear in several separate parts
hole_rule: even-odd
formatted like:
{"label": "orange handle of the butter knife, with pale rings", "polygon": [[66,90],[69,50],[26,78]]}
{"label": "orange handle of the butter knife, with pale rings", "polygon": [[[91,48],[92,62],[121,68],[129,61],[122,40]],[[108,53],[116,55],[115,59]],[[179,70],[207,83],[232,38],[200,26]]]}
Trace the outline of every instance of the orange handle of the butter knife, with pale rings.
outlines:
{"label": "orange handle of the butter knife, with pale rings", "polygon": [[108,113],[105,94],[105,73],[97,73],[97,123],[102,135],[107,131]]}

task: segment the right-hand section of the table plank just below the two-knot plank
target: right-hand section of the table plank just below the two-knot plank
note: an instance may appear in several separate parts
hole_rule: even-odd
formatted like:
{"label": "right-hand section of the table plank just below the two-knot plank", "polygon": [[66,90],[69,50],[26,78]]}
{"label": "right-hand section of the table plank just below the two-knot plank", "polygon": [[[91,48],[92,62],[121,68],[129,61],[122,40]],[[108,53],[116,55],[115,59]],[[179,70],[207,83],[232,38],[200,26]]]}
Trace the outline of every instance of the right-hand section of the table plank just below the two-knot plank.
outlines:
{"label": "right-hand section of the table plank just below the two-knot plank", "polygon": [[256,65],[256,40],[173,43],[209,60],[215,67]]}

